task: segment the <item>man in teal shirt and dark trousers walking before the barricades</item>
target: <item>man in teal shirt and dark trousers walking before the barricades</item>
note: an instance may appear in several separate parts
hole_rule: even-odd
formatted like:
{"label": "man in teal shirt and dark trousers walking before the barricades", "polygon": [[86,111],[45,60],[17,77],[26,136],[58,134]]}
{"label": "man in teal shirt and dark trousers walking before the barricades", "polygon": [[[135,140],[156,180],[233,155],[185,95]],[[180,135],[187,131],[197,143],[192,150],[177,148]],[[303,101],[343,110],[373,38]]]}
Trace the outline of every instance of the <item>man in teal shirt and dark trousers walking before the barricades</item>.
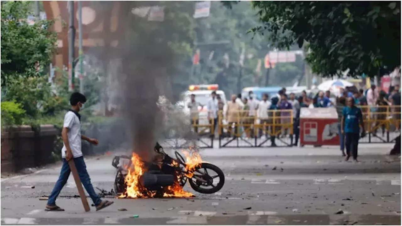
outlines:
{"label": "man in teal shirt and dark trousers walking before the barricades", "polygon": [[346,107],[343,109],[342,123],[340,124],[341,132],[345,135],[345,161],[349,160],[352,154],[353,160],[357,162],[357,146],[359,144],[360,138],[359,124],[362,128],[361,137],[364,137],[365,129],[363,123],[363,115],[360,108],[355,106],[355,101],[353,100],[353,98],[348,97],[346,101]]}

